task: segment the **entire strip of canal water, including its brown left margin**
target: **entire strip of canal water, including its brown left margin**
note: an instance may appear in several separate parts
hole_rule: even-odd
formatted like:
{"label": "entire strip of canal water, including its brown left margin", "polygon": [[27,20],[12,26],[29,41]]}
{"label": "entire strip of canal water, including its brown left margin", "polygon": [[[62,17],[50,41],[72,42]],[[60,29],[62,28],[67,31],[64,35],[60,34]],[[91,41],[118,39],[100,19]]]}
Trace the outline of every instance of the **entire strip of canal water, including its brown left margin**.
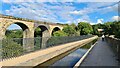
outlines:
{"label": "entire strip of canal water, including its brown left margin", "polygon": [[96,41],[97,39],[82,47],[77,47],[71,51],[59,55],[54,59],[40,64],[39,66],[49,66],[50,68],[54,68],[56,66],[69,66],[69,68],[72,68]]}

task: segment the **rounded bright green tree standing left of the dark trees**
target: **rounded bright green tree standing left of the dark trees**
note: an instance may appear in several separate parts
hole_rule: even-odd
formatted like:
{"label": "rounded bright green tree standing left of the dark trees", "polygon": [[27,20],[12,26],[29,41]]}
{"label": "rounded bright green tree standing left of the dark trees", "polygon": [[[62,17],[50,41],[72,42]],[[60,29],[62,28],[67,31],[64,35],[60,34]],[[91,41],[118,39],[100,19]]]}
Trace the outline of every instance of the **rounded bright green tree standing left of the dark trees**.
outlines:
{"label": "rounded bright green tree standing left of the dark trees", "polygon": [[92,26],[86,22],[78,23],[78,30],[80,31],[81,35],[88,35],[93,33]]}

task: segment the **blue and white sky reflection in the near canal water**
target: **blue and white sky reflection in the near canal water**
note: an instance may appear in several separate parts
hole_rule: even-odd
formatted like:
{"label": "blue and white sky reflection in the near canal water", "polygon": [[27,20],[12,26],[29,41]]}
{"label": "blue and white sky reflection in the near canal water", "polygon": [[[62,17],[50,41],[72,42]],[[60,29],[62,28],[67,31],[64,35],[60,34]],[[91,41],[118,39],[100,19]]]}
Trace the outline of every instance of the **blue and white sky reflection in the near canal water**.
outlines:
{"label": "blue and white sky reflection in the near canal water", "polygon": [[74,64],[82,57],[82,55],[87,51],[87,49],[77,49],[73,53],[65,56],[61,60],[55,62],[51,66],[74,66]]}

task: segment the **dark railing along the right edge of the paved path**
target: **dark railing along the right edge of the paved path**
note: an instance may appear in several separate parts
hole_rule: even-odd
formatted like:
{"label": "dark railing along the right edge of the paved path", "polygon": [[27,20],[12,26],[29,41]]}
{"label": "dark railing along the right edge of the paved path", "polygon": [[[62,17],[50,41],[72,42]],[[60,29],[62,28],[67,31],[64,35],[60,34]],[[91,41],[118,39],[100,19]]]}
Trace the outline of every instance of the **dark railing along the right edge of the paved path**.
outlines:
{"label": "dark railing along the right edge of the paved path", "polygon": [[110,44],[113,52],[116,54],[118,61],[120,62],[120,39],[106,37],[106,40]]}

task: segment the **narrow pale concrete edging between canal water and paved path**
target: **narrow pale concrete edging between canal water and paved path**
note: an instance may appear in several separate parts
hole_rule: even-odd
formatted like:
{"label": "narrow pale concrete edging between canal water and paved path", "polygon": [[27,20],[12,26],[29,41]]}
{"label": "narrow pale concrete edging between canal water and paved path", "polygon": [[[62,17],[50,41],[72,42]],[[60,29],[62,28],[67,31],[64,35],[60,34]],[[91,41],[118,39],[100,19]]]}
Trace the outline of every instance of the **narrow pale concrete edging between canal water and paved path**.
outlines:
{"label": "narrow pale concrete edging between canal water and paved path", "polygon": [[97,44],[98,42],[96,42],[95,44],[93,44],[90,49],[82,56],[82,58],[74,65],[73,68],[78,68],[82,62],[84,61],[84,59],[88,56],[88,54],[90,53],[90,51],[93,49],[93,47]]}

